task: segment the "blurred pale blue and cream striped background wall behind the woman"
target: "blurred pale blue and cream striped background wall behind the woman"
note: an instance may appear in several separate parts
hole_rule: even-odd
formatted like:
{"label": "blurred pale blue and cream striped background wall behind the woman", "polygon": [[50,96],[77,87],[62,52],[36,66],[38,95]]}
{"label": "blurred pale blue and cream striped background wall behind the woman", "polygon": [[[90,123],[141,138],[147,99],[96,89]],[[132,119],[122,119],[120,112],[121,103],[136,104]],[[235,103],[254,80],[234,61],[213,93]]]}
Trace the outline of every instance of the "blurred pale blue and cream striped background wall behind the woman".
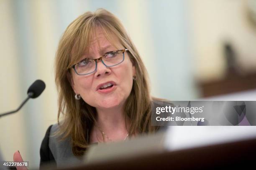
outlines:
{"label": "blurred pale blue and cream striped background wall behind the woman", "polygon": [[225,75],[223,42],[236,47],[243,72],[255,70],[256,29],[247,5],[246,0],[0,0],[0,112],[15,109],[36,79],[46,82],[39,98],[0,119],[4,159],[12,160],[19,150],[31,167],[39,166],[41,141],[57,120],[56,48],[79,15],[97,8],[116,15],[143,58],[152,95],[195,100],[202,97],[198,81]]}

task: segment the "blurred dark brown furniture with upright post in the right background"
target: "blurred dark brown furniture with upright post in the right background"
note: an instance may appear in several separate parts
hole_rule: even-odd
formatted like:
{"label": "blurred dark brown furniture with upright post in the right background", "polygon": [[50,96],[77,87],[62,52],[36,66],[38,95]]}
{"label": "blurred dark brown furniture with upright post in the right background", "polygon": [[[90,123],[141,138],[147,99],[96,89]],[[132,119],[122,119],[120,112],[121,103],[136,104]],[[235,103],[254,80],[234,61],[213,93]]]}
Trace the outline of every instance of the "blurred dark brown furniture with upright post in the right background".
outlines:
{"label": "blurred dark brown furniture with upright post in the right background", "polygon": [[199,82],[201,97],[223,95],[243,90],[256,89],[256,72],[245,74],[236,60],[236,52],[231,43],[223,45],[223,55],[226,61],[226,73],[222,80]]}

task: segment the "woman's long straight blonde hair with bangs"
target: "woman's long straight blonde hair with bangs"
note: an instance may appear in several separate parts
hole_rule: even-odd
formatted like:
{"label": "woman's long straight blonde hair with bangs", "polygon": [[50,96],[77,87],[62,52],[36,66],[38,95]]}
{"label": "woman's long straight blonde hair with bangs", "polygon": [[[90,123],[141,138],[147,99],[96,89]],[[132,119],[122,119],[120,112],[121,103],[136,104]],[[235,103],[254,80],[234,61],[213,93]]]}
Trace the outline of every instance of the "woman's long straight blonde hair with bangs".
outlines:
{"label": "woman's long straight blonde hair with bangs", "polygon": [[75,100],[75,93],[68,80],[69,68],[79,60],[85,50],[88,50],[92,36],[97,35],[97,28],[102,29],[107,39],[112,42],[112,35],[115,35],[128,49],[128,55],[135,65],[136,80],[133,81],[131,94],[124,106],[125,114],[131,120],[129,135],[154,133],[158,128],[151,126],[152,99],[148,73],[125,28],[118,18],[107,10],[98,9],[95,13],[84,13],[65,30],[55,60],[55,82],[59,92],[58,134],[61,134],[61,139],[71,137],[72,151],[76,156],[83,155],[89,146],[87,130],[95,123],[96,109],[83,100]]}

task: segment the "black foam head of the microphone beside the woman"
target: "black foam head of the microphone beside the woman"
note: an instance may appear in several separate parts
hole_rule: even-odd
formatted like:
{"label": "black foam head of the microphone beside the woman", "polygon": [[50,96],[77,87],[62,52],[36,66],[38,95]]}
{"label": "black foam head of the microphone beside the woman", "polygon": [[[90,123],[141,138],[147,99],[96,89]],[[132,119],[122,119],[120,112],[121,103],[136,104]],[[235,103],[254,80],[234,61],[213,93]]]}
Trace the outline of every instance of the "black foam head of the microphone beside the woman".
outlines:
{"label": "black foam head of the microphone beside the woman", "polygon": [[45,89],[45,83],[42,80],[36,80],[35,82],[33,82],[33,84],[28,88],[28,95],[31,98],[36,98],[39,95],[41,95],[41,93],[44,91]]}

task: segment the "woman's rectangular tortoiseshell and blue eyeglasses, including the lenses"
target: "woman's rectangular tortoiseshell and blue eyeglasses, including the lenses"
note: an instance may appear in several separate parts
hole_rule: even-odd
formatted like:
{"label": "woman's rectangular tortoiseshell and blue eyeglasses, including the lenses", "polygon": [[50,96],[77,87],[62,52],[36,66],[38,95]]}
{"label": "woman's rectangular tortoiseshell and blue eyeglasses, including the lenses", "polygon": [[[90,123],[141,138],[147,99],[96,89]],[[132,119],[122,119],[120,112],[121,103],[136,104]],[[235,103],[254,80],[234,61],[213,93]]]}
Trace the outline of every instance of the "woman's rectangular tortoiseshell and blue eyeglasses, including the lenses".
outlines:
{"label": "woman's rectangular tortoiseshell and blue eyeglasses, including the lenses", "polygon": [[93,60],[85,58],[77,64],[72,65],[71,68],[74,69],[77,75],[88,75],[97,70],[97,61],[101,61],[106,67],[113,67],[120,64],[124,60],[125,51],[128,51],[128,49],[111,51]]}

